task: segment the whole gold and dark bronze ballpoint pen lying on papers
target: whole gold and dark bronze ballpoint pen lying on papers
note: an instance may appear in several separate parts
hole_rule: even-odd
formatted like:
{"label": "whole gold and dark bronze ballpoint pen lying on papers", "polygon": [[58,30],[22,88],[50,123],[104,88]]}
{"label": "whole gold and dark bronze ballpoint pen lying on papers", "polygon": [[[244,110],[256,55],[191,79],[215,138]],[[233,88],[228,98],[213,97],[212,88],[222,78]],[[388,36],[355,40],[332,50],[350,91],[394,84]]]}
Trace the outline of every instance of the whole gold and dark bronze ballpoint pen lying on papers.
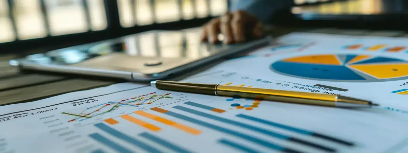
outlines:
{"label": "whole gold and dark bronze ballpoint pen lying on papers", "polygon": [[219,96],[238,96],[242,98],[273,100],[278,102],[310,104],[331,107],[371,107],[378,106],[368,100],[350,98],[342,95],[326,95],[322,93],[307,93],[274,89],[248,88],[239,86],[223,86],[220,84],[198,84],[175,81],[151,81],[151,86],[157,89],[199,93]]}

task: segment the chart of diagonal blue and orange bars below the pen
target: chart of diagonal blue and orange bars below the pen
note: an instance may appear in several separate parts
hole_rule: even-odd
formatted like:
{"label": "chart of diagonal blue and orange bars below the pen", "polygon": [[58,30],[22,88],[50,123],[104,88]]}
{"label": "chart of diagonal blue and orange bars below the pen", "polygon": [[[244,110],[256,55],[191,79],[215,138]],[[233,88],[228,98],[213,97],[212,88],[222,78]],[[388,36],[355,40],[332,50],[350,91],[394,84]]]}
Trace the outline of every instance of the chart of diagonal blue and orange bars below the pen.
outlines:
{"label": "chart of diagonal blue and orange bars below the pen", "polygon": [[[224,117],[223,114],[225,113],[228,113],[228,111],[217,109],[213,106],[208,106],[207,104],[200,104],[192,101],[178,102],[171,106],[160,106],[144,111],[134,111],[130,114],[121,115],[116,118],[109,118],[103,122],[95,123],[93,126],[97,128],[99,132],[90,133],[89,137],[95,142],[109,148],[109,150],[118,153],[136,153],[138,151],[165,153],[170,150],[178,153],[201,152],[190,149],[190,145],[188,144],[191,142],[175,141],[175,137],[166,136],[166,133],[163,132],[169,128],[177,131],[175,132],[175,135],[180,132],[189,135],[188,137],[196,137],[193,139],[197,141],[196,143],[203,143],[200,142],[200,135],[211,135],[211,132],[222,133],[220,135],[211,136],[213,137],[213,144],[206,145],[219,145],[220,147],[226,147],[242,153],[262,153],[257,146],[262,146],[263,149],[282,153],[306,153],[299,149],[281,145],[281,141],[305,146],[319,152],[337,152],[337,149],[333,146],[320,144],[318,141],[310,141],[310,139],[304,140],[267,128],[272,127],[310,138],[328,141],[340,146],[355,146],[355,143],[342,140],[341,138],[288,126],[271,120],[257,118],[252,115],[238,113],[231,118],[227,116]],[[248,122],[242,122],[243,120],[257,123],[258,126],[248,124]],[[133,134],[129,134],[129,131],[122,131],[123,126],[121,126],[121,124],[124,124],[122,122],[129,122],[135,126],[140,126],[144,128],[144,131],[137,130],[134,131]],[[231,126],[223,126],[219,123]],[[259,124],[262,124],[263,126],[259,126]],[[246,131],[255,132],[273,139],[261,138],[231,127],[245,129]],[[135,134],[136,132],[137,134]],[[231,139],[231,137],[239,139]],[[121,142],[115,142],[114,140],[120,140]],[[124,143],[129,145],[124,145]],[[96,149],[92,153],[105,152],[107,151]]]}

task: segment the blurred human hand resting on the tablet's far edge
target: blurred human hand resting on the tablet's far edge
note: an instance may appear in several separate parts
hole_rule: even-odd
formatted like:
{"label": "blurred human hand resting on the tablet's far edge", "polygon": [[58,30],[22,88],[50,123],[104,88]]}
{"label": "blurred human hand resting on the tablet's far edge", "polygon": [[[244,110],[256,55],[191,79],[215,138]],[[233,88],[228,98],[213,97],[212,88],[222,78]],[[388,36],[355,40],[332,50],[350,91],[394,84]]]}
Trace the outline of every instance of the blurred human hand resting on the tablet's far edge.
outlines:
{"label": "blurred human hand resting on the tablet's far edge", "polygon": [[225,44],[240,43],[246,38],[261,38],[264,35],[264,24],[255,16],[238,10],[204,24],[201,40],[216,43],[220,41],[218,33],[224,35]]}

